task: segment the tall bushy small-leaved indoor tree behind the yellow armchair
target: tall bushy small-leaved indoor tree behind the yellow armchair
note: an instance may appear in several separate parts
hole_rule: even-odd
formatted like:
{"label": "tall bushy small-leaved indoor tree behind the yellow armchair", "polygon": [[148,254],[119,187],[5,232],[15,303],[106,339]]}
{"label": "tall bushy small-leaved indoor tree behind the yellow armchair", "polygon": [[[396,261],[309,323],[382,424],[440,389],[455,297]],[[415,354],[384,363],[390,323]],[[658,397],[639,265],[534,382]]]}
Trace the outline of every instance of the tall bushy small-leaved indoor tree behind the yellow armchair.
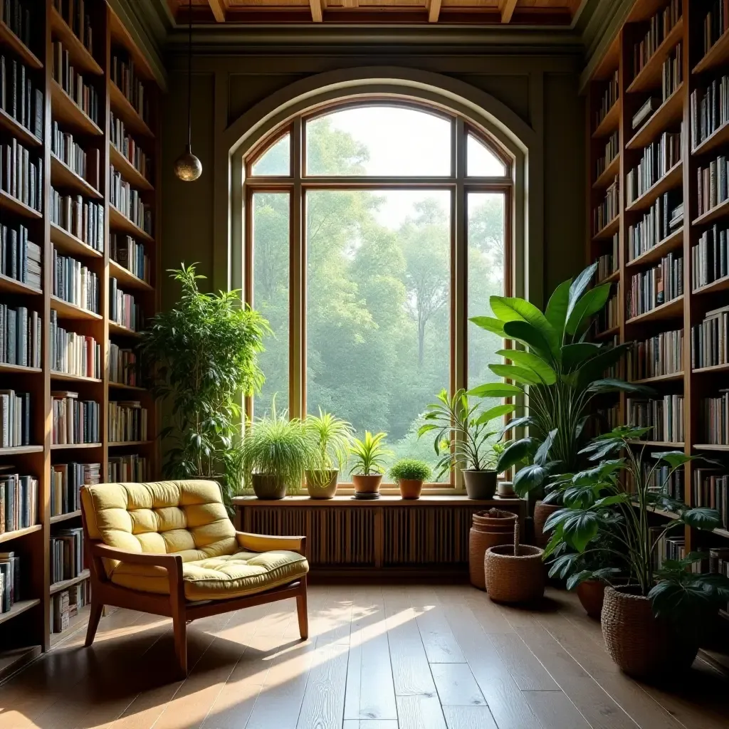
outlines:
{"label": "tall bushy small-leaved indoor tree behind the yellow armchair", "polygon": [[200,292],[205,276],[196,265],[171,270],[182,286],[179,303],[157,313],[140,346],[155,373],[155,394],[171,405],[160,437],[171,443],[163,471],[174,478],[217,477],[225,469],[240,432],[241,394],[260,391],[264,381],[257,354],[270,333],[238,292]]}

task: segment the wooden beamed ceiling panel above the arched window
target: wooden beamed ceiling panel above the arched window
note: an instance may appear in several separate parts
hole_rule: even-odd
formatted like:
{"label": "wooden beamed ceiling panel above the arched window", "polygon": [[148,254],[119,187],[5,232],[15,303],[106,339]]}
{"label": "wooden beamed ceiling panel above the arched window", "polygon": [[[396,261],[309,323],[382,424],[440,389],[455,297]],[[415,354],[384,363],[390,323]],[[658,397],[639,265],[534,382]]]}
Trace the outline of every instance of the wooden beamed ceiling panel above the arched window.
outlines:
{"label": "wooden beamed ceiling panel above the arched window", "polygon": [[[188,0],[167,0],[178,25]],[[569,26],[582,0],[192,0],[194,23],[518,23]]]}

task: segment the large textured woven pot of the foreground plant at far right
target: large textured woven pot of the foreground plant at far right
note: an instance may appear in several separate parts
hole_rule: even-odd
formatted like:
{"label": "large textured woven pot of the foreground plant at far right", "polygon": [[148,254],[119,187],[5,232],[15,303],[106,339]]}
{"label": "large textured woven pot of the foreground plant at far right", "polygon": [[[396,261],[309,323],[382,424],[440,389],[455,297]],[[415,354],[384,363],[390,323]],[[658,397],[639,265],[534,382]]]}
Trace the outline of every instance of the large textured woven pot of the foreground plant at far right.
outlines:
{"label": "large textured woven pot of the foreground plant at far right", "polygon": [[602,635],[612,660],[626,674],[647,678],[691,666],[698,642],[653,615],[650,599],[635,588],[605,588]]}

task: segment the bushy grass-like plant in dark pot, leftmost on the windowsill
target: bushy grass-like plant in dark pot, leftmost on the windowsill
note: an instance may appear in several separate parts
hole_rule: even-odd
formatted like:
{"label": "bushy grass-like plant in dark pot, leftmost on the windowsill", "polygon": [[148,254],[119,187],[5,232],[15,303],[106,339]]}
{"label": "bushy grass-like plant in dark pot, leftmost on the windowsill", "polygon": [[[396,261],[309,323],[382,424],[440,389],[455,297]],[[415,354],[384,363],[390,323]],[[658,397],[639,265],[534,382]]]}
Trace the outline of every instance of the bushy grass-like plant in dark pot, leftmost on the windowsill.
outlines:
{"label": "bushy grass-like plant in dark pot, leftmost on the windowsill", "polygon": [[297,491],[311,459],[311,440],[297,418],[289,420],[286,410],[257,418],[247,429],[241,444],[242,460],[253,491],[259,499],[283,499]]}

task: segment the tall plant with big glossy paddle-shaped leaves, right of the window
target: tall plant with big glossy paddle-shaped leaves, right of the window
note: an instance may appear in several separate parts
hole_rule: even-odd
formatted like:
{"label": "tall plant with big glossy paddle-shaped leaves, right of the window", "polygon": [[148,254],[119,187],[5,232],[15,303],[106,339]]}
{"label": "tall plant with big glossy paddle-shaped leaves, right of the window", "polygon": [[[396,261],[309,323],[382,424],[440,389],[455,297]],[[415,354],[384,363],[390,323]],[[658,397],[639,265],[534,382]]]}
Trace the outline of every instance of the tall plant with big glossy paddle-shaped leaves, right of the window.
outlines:
{"label": "tall plant with big glossy paddle-shaped leaves, right of the window", "polygon": [[597,269],[593,264],[572,281],[557,286],[544,313],[518,297],[491,297],[494,316],[471,321],[510,345],[496,352],[511,364],[490,364],[495,375],[509,382],[487,383],[468,392],[475,397],[523,397],[527,414],[513,418],[505,432],[528,427],[527,437],[514,440],[499,459],[499,471],[526,461],[514,480],[515,491],[526,496],[542,488],[558,472],[580,468],[590,403],[609,391],[650,392],[647,388],[604,373],[617,364],[630,343],[610,346],[588,341],[593,317],[607,303],[610,284],[590,289]]}

